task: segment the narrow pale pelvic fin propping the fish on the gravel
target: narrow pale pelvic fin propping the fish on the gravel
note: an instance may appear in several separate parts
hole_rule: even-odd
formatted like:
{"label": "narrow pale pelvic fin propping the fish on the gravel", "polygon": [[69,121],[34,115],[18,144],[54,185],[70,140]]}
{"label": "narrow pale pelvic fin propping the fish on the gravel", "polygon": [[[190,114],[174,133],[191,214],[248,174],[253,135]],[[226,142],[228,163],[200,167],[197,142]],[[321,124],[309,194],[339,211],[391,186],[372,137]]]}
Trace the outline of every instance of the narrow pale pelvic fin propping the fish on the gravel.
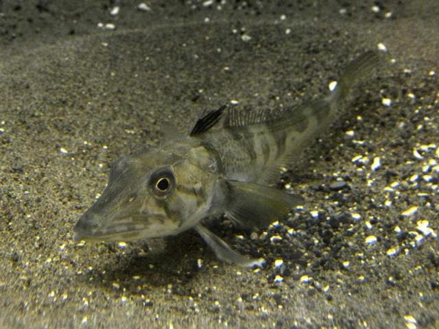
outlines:
{"label": "narrow pale pelvic fin propping the fish on the gravel", "polygon": [[222,260],[229,264],[236,264],[241,267],[253,267],[254,265],[262,266],[265,263],[263,258],[248,258],[244,255],[235,252],[230,246],[220,239],[218,236],[213,234],[207,228],[204,228],[201,224],[195,226],[195,230],[202,236],[204,241],[213,249],[215,255],[219,260]]}

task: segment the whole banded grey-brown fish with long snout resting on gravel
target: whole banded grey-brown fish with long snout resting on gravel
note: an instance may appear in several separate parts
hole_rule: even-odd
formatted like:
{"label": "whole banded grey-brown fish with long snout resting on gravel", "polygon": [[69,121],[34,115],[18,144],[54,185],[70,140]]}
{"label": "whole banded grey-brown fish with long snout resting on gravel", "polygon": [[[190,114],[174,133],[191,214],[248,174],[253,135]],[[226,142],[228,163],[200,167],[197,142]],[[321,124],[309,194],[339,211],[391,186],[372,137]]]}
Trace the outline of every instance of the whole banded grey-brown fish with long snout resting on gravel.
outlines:
{"label": "whole banded grey-brown fish with long snout resting on gravel", "polygon": [[220,260],[263,262],[231,249],[206,219],[226,215],[241,228],[272,223],[303,203],[268,186],[325,127],[338,105],[379,58],[368,51],[348,65],[328,97],[287,110],[235,112],[225,106],[198,119],[189,136],[112,164],[108,185],[75,226],[76,240],[134,241],[195,229]]}

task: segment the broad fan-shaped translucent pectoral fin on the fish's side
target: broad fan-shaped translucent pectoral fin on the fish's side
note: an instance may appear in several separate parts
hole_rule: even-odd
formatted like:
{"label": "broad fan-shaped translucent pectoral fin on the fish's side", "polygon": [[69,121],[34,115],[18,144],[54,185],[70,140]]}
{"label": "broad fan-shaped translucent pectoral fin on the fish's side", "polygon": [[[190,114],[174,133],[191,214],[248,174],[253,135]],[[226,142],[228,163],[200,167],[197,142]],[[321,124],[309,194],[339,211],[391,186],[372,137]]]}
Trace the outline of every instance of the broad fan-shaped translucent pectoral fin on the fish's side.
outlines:
{"label": "broad fan-shaped translucent pectoral fin on the fish's side", "polygon": [[304,203],[299,195],[260,184],[224,180],[228,202],[226,215],[239,226],[257,229],[268,226]]}

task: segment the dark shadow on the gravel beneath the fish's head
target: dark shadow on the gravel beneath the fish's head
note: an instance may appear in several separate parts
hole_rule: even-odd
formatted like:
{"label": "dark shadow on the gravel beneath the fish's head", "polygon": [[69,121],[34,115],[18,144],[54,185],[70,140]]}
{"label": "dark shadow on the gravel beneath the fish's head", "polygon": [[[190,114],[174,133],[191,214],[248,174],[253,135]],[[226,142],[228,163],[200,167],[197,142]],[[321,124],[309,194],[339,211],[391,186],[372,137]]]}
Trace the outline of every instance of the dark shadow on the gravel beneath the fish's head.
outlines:
{"label": "dark shadow on the gravel beneath the fish's head", "polygon": [[[156,249],[146,245],[156,245]],[[88,283],[106,290],[123,289],[131,294],[144,294],[148,289],[169,284],[184,290],[186,284],[207,271],[199,259],[212,263],[215,256],[196,232],[183,232],[162,241],[139,243],[126,254],[117,254],[115,261],[104,263],[88,273]],[[147,252],[143,250],[148,249]]]}

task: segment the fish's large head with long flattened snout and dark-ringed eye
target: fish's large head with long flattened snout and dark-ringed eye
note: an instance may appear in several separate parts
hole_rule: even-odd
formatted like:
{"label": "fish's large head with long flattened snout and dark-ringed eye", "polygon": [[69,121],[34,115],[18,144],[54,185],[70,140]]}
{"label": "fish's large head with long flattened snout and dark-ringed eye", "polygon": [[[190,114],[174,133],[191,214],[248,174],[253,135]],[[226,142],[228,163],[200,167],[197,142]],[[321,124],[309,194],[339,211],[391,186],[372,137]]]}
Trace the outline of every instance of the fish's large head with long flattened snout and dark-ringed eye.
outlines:
{"label": "fish's large head with long flattened snout and dark-ringed eye", "polygon": [[217,159],[192,138],[112,164],[108,184],[75,226],[75,240],[134,241],[178,234],[211,208]]}

